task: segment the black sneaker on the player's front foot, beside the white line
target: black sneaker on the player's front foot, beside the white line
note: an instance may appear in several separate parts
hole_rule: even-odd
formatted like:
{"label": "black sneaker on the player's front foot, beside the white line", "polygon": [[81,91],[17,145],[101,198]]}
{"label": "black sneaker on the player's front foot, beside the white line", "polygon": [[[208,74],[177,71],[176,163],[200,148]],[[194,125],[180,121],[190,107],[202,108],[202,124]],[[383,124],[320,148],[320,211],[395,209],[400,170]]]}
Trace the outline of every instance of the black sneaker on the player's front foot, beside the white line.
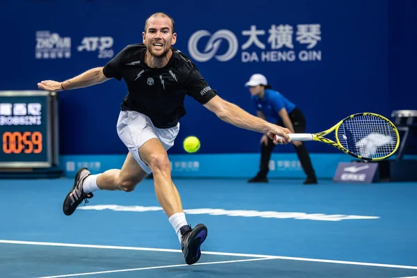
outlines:
{"label": "black sneaker on the player's front foot, beside the white line", "polygon": [[190,225],[181,227],[180,229],[182,240],[181,250],[184,254],[184,259],[188,265],[197,263],[202,252],[200,246],[204,243],[207,237],[207,227],[204,224],[198,224],[191,229]]}

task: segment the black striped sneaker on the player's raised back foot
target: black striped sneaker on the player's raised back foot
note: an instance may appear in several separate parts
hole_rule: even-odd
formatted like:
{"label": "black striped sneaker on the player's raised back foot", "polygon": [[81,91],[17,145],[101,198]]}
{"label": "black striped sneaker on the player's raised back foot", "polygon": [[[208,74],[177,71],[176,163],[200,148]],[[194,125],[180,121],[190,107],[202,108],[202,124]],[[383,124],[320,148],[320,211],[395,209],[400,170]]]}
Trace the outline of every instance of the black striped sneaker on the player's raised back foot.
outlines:
{"label": "black striped sneaker on the player's raised back foot", "polygon": [[84,193],[83,191],[83,182],[90,174],[87,168],[81,168],[76,172],[74,186],[64,200],[63,211],[65,215],[72,215],[81,202],[88,203],[88,199],[94,196],[92,193]]}

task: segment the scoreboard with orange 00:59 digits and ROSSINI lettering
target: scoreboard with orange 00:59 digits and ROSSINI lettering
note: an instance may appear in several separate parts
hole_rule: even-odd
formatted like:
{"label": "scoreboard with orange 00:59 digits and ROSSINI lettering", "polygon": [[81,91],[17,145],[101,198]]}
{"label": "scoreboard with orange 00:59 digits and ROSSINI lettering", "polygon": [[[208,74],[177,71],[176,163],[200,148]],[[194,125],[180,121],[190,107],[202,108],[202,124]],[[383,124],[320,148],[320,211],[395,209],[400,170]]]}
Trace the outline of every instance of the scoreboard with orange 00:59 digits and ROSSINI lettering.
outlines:
{"label": "scoreboard with orange 00:59 digits and ROSSINI lettering", "polygon": [[58,165],[56,92],[0,91],[0,169]]}

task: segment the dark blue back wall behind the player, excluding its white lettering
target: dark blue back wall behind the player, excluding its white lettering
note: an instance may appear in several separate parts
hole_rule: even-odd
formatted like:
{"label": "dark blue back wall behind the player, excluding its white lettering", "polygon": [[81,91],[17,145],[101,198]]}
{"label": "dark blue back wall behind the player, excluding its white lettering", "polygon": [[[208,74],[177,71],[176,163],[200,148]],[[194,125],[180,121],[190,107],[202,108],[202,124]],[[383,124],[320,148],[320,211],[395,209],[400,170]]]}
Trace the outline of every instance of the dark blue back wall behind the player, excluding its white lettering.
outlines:
{"label": "dark blue back wall behind the player, excluding its white lettering", "polygon": [[[226,29],[234,33],[238,49],[230,60],[193,60],[211,88],[250,113],[254,113],[254,107],[243,84],[254,72],[265,74],[273,88],[301,108],[309,132],[327,129],[352,113],[372,111],[391,117],[395,109],[417,108],[416,1],[297,0],[258,1],[254,5],[253,1],[242,0],[238,5],[211,1],[210,6],[180,2],[1,1],[0,90],[34,90],[39,81],[62,81],[91,67],[103,66],[110,58],[98,58],[99,49],[77,51],[83,38],[113,38],[113,45],[101,53],[108,57],[111,50],[117,53],[126,44],[141,42],[147,16],[164,11],[176,21],[176,47],[189,56],[188,40],[196,31],[213,34]],[[293,48],[272,49],[268,42],[272,24],[293,27]],[[311,49],[296,40],[298,24],[320,24],[320,40]],[[258,37],[265,49],[255,44],[242,49],[248,39],[242,32],[250,30],[251,25],[265,31]],[[36,58],[37,53],[48,51],[48,47],[36,48],[37,38],[42,36],[37,31],[70,38],[70,58]],[[208,38],[197,43],[200,52],[204,52]],[[224,54],[227,49],[227,41],[221,40],[216,54]],[[296,58],[262,61],[262,51],[294,51]],[[298,55],[305,51],[320,54],[320,59],[300,60]],[[256,55],[260,61],[244,62],[243,52],[254,53],[252,57]],[[115,129],[124,95],[126,86],[115,80],[60,93],[61,154],[125,154]],[[190,97],[186,98],[186,109],[188,115],[181,121],[177,144],[170,153],[183,153],[180,142],[188,135],[202,140],[201,153],[259,151],[261,134],[221,122]],[[338,152],[324,144],[307,144],[311,152]],[[275,150],[293,152],[291,146]]]}

